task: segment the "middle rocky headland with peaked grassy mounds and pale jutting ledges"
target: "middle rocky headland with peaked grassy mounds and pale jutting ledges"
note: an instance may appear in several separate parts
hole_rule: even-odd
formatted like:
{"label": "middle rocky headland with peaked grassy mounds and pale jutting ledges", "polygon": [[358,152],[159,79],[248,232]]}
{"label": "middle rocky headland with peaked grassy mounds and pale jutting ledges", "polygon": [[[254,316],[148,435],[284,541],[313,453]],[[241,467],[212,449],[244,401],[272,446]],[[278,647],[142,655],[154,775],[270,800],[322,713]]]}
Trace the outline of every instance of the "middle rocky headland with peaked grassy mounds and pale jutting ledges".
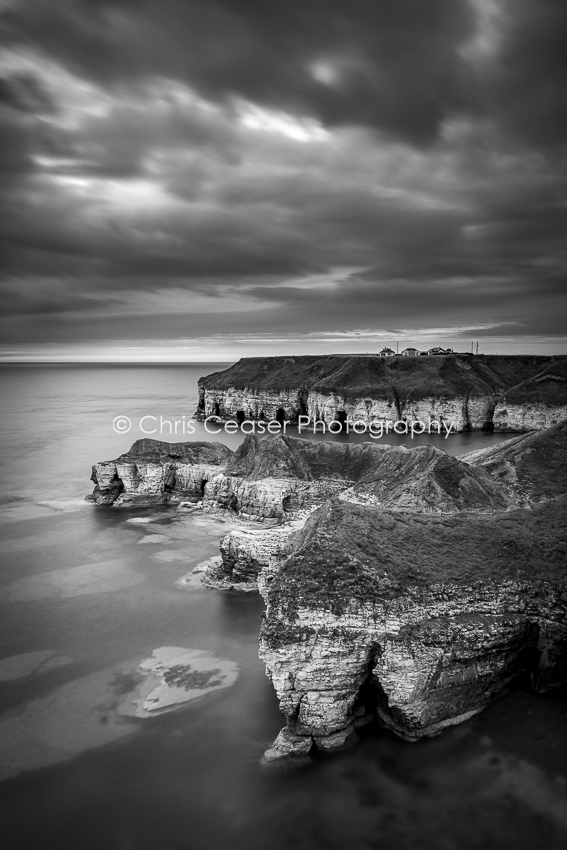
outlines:
{"label": "middle rocky headland with peaked grassy mounds and pale jutting ledges", "polygon": [[[430,445],[309,442],[248,436],[236,452],[219,443],[138,440],[114,461],[93,467],[96,504],[117,508],[198,504],[227,509],[243,522],[221,541],[210,587],[250,589],[260,570],[289,554],[290,540],[326,499],[451,513],[503,509],[502,486]],[[258,527],[258,523],[261,527]],[[275,525],[275,527],[274,527]]]}

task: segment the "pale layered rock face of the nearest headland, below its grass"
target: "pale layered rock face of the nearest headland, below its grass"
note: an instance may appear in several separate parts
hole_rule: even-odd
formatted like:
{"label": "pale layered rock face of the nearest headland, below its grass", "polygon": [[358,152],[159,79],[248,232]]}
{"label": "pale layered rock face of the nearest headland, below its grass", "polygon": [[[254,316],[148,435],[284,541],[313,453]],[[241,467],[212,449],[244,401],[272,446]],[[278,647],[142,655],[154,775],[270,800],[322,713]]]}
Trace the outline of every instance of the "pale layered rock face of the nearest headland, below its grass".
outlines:
{"label": "pale layered rock face of the nearest headland, below its grass", "polygon": [[545,583],[408,587],[339,615],[299,607],[290,621],[267,578],[260,658],[287,718],[268,760],[340,746],[375,714],[406,740],[436,735],[481,711],[529,651],[538,689],[554,684],[567,601]]}

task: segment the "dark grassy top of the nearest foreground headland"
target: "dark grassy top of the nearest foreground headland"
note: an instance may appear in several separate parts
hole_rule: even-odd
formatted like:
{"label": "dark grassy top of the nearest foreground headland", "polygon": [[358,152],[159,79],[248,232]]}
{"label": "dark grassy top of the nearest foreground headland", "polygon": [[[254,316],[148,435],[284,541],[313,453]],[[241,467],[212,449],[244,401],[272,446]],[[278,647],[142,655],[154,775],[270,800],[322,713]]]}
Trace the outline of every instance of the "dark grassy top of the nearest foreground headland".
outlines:
{"label": "dark grassy top of the nearest foreground headland", "polygon": [[340,612],[413,587],[503,579],[567,582],[567,497],[533,509],[410,514],[333,499],[308,521],[270,601]]}

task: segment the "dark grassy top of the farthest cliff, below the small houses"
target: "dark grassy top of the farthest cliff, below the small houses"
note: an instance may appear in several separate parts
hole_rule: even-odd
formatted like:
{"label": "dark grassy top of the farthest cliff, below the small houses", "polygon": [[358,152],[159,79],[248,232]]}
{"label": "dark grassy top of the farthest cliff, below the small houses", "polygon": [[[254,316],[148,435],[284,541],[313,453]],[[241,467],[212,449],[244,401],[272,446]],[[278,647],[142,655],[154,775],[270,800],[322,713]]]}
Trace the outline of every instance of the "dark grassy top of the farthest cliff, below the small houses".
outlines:
{"label": "dark grassy top of the farthest cliff, below the small houses", "polygon": [[[527,383],[526,383],[527,382]],[[492,393],[510,403],[567,404],[567,357],[463,354],[380,357],[377,354],[245,357],[199,379],[208,390],[305,389],[346,398],[453,397]]]}

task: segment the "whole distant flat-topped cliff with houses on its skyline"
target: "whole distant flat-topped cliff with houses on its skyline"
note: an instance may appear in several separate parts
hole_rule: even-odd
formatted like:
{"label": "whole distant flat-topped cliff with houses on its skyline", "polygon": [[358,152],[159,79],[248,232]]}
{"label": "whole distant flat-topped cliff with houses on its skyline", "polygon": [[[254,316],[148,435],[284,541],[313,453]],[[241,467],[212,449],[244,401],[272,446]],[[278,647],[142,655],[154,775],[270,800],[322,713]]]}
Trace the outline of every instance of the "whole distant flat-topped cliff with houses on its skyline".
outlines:
{"label": "whole distant flat-topped cliff with houses on its skyline", "polygon": [[567,357],[249,357],[199,380],[196,415],[525,432],[567,419]]}

